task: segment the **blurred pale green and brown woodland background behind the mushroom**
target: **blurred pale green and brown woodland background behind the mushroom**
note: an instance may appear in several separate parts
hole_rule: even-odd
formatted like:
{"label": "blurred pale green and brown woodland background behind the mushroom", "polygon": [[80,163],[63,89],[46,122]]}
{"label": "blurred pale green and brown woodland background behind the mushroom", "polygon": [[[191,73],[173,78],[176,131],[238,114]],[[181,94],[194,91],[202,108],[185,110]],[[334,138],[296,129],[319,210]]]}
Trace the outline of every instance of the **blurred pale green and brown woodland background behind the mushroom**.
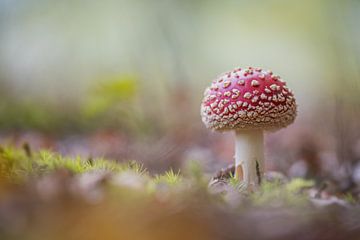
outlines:
{"label": "blurred pale green and brown woodland background behind the mushroom", "polygon": [[201,122],[203,91],[235,67],[293,89],[294,124],[267,169],[360,183],[357,0],[0,1],[0,144],[137,160],[153,172],[233,161]]}

